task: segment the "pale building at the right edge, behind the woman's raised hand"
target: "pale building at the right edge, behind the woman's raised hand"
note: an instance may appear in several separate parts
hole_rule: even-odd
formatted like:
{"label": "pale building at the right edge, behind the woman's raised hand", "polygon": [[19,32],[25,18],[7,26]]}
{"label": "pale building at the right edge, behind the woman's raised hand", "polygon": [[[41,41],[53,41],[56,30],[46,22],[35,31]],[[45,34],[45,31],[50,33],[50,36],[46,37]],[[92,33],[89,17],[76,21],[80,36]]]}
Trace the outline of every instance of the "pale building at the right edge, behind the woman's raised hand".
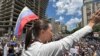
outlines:
{"label": "pale building at the right edge, behind the woman's raised hand", "polygon": [[90,16],[100,9],[100,1],[96,0],[83,0],[83,7],[82,7],[82,24],[83,26],[88,24]]}

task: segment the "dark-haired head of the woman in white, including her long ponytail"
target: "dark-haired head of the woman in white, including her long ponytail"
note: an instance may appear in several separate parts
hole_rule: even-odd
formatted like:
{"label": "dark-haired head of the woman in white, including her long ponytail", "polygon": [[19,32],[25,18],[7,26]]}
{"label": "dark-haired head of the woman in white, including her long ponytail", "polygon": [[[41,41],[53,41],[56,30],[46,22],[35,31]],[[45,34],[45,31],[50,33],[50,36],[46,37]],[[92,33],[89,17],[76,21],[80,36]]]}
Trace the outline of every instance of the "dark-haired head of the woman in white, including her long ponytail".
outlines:
{"label": "dark-haired head of the woman in white, including her long ponytail", "polygon": [[52,40],[53,32],[52,32],[52,25],[47,20],[35,20],[34,27],[31,27],[27,30],[26,33],[26,42],[25,42],[25,49],[30,44],[30,40],[32,39],[32,32],[34,35],[34,41],[40,41],[42,43],[47,43]]}

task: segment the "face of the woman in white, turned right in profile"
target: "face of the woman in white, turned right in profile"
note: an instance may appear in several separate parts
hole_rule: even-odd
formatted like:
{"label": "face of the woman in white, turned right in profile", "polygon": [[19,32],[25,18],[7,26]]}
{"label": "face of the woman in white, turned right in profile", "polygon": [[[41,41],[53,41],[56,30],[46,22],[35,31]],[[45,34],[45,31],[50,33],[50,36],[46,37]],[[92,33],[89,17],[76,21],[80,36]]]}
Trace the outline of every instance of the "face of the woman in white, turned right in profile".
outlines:
{"label": "face of the woman in white, turned right in profile", "polygon": [[49,41],[52,40],[52,36],[53,36],[52,25],[49,24],[48,29],[44,31],[44,37],[43,37],[43,38],[44,38],[44,40],[45,40],[46,42],[49,42]]}

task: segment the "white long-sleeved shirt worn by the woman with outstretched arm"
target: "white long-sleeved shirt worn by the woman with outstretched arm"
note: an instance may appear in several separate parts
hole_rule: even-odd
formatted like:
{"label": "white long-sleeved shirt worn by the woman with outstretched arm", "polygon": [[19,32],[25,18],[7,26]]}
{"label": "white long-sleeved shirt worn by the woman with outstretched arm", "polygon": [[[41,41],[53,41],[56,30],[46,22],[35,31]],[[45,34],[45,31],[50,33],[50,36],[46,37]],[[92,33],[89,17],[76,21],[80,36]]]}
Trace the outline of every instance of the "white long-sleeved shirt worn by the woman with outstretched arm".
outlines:
{"label": "white long-sleeved shirt worn by the woman with outstretched arm", "polygon": [[74,41],[77,42],[81,37],[91,31],[92,28],[87,25],[59,41],[47,44],[34,42],[27,50],[23,51],[22,56],[63,56],[63,50],[69,50]]}

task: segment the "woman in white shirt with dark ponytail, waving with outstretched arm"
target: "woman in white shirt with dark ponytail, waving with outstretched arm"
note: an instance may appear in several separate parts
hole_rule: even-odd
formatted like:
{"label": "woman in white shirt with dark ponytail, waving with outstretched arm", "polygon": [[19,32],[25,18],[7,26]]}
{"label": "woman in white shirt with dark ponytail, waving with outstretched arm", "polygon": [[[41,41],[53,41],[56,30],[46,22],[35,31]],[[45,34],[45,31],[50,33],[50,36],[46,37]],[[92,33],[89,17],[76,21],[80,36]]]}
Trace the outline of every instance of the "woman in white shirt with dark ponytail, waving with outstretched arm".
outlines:
{"label": "woman in white shirt with dark ponytail, waving with outstretched arm", "polygon": [[[52,25],[46,20],[36,20],[34,28],[28,30],[26,34],[25,50],[22,56],[63,56],[63,52],[68,50],[73,42],[77,42],[85,34],[92,31],[92,27],[99,22],[100,10],[90,18],[89,24],[75,33],[58,41],[52,40]],[[34,41],[31,32],[33,30]],[[31,44],[30,44],[31,42]]]}

